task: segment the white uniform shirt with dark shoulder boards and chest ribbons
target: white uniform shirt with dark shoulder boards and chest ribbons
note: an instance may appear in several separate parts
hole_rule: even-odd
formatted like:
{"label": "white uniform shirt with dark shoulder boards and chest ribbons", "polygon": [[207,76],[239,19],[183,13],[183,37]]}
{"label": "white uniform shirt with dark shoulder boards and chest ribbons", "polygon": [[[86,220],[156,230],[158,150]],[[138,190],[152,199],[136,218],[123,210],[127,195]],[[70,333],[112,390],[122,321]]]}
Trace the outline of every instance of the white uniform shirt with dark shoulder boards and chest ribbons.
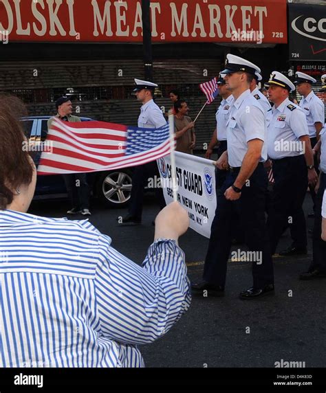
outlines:
{"label": "white uniform shirt with dark shoulder boards and chest ribbons", "polygon": [[299,138],[309,135],[309,131],[305,113],[298,105],[286,98],[277,108],[273,106],[268,111],[266,122],[268,157],[281,159],[305,153]]}

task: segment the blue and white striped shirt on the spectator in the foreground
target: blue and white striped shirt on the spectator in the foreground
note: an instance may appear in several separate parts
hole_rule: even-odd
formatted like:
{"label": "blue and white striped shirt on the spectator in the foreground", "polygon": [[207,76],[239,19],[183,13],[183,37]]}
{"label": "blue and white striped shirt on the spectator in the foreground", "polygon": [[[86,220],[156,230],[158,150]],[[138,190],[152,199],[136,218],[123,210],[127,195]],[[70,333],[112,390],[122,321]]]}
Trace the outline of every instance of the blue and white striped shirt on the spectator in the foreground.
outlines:
{"label": "blue and white striped shirt on the spectator in the foreground", "polygon": [[137,344],[191,302],[184,253],[156,240],[142,267],[88,221],[0,210],[0,366],[143,367]]}

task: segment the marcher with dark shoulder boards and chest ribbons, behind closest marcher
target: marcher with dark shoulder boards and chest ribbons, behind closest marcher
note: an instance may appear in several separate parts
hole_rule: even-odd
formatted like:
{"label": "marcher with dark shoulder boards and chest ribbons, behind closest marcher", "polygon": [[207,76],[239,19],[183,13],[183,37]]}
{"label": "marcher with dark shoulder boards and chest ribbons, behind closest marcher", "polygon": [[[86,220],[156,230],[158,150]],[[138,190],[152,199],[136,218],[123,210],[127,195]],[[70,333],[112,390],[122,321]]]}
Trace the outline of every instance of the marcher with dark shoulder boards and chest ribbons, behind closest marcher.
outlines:
{"label": "marcher with dark shoulder boards and chest ribbons, behind closest marcher", "polygon": [[308,183],[316,186],[312,147],[303,110],[289,100],[295,86],[285,75],[273,71],[268,96],[274,106],[267,115],[268,156],[272,159],[274,188],[268,214],[272,254],[284,228],[292,228],[292,245],[281,254],[307,254],[307,232],[303,201]]}

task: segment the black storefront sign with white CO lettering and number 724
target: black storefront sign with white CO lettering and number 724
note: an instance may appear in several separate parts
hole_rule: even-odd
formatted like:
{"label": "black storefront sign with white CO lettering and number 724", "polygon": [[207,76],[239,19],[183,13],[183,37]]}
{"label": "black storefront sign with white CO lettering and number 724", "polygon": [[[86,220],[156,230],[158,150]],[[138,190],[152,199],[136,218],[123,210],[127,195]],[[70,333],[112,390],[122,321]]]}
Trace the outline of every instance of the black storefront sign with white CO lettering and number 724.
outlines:
{"label": "black storefront sign with white CO lettering and number 724", "polygon": [[326,61],[326,5],[289,4],[290,60]]}

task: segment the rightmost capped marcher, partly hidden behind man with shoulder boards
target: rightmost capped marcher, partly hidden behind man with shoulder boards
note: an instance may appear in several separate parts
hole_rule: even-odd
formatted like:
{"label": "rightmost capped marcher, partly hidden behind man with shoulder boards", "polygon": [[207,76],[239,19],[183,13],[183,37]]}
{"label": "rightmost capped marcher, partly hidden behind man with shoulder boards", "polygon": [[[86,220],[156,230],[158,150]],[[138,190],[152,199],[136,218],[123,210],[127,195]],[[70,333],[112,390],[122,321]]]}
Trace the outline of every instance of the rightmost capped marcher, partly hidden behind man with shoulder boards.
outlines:
{"label": "rightmost capped marcher, partly hidden behind man with shoulder boards", "polygon": [[[314,148],[317,143],[317,139],[319,139],[319,133],[324,126],[325,119],[325,106],[323,101],[316,96],[314,91],[312,91],[312,84],[316,82],[316,79],[312,78],[312,76],[304,74],[303,72],[296,72],[296,80],[294,81],[294,85],[296,85],[296,90],[298,93],[303,96],[299,106],[301,109],[303,109],[307,119],[312,148]],[[314,166],[316,172],[318,172],[318,159],[316,156],[314,159]],[[309,186],[309,190],[315,209],[316,193],[314,191],[314,187]],[[314,213],[310,213],[308,216],[313,217]]]}

